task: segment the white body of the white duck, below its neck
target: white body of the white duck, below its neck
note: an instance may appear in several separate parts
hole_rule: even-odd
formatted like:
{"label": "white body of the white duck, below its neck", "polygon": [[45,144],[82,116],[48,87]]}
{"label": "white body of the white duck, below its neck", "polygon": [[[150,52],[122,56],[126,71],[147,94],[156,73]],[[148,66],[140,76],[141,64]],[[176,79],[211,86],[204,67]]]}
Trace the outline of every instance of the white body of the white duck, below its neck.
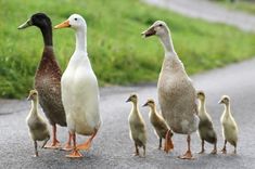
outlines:
{"label": "white body of the white duck, below its neck", "polygon": [[90,135],[100,126],[97,77],[86,61],[68,65],[62,77],[62,100],[69,130]]}

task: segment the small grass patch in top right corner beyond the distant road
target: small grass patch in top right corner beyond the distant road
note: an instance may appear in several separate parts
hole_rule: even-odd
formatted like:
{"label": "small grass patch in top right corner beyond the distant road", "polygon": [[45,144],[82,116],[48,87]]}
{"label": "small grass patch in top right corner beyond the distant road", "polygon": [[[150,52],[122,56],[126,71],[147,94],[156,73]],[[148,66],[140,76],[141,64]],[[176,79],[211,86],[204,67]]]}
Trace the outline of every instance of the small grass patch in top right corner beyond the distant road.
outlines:
{"label": "small grass patch in top right corner beyond the distant road", "polygon": [[229,10],[243,11],[250,14],[255,14],[255,1],[238,1],[231,3],[230,1],[219,1],[220,4],[225,5]]}

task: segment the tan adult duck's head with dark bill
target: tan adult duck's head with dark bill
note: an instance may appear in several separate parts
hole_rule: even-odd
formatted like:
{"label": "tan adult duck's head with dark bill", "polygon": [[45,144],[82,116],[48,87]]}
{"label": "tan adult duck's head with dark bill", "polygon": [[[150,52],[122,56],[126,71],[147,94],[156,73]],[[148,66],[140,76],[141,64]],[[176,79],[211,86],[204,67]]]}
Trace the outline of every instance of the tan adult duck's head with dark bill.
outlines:
{"label": "tan adult duck's head with dark bill", "polygon": [[151,37],[151,36],[164,36],[169,32],[169,29],[165,22],[163,21],[156,21],[154,24],[152,24],[146,30],[142,31],[143,37]]}

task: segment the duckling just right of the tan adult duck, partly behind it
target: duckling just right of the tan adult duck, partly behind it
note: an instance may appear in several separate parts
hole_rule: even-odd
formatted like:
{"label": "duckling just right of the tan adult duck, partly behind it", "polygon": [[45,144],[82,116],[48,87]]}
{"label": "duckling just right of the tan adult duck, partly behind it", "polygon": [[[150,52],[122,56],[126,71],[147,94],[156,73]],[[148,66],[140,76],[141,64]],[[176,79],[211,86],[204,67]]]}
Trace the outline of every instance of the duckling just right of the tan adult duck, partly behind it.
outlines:
{"label": "duckling just right of the tan adult duck, partly behind it", "polygon": [[205,148],[204,148],[205,141],[211,144],[214,144],[214,150],[211,152],[211,154],[217,154],[217,134],[214,129],[212,117],[209,116],[205,107],[205,93],[203,91],[197,91],[197,99],[200,101],[199,134],[201,139],[201,152],[199,154],[203,154],[205,152]]}

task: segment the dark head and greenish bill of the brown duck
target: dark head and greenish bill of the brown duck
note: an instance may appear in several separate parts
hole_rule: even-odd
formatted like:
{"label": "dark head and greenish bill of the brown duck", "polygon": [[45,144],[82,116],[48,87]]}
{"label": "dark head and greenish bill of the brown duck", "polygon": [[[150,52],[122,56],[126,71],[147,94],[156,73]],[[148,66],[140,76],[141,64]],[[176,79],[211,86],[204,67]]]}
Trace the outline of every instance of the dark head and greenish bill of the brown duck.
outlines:
{"label": "dark head and greenish bill of the brown duck", "polygon": [[24,24],[18,26],[18,29],[25,29],[29,26],[37,26],[39,28],[50,26],[51,27],[51,20],[44,13],[36,13],[31,15]]}

